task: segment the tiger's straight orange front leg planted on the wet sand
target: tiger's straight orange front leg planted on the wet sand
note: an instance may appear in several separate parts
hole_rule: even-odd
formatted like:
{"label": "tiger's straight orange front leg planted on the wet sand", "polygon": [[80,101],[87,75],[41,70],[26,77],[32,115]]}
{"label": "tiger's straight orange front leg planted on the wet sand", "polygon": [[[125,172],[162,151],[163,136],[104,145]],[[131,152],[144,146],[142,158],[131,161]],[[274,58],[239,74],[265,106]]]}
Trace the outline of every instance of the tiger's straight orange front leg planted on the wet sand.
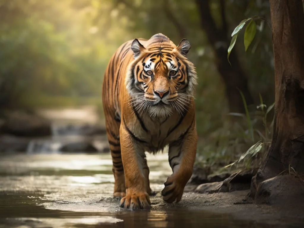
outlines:
{"label": "tiger's straight orange front leg planted on the wet sand", "polygon": [[144,175],[144,150],[135,143],[130,130],[122,124],[120,127],[120,145],[126,181],[126,196],[120,200],[124,208],[149,209],[151,202],[147,193]]}

